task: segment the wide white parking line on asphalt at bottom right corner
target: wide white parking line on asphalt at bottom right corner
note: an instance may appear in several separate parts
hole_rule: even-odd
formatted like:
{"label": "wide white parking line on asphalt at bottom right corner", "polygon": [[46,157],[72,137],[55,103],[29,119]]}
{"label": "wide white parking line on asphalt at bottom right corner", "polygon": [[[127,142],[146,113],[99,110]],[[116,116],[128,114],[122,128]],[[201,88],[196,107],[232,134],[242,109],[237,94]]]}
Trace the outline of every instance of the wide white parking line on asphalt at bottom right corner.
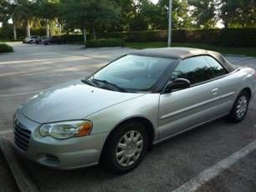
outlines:
{"label": "wide white parking line on asphalt at bottom right corner", "polygon": [[185,184],[182,184],[179,188],[173,190],[173,192],[184,191],[197,191],[203,184],[206,184],[211,179],[214,179],[219,174],[223,173],[225,169],[230,168],[233,164],[236,164],[240,159],[243,159],[246,155],[252,153],[256,149],[256,140],[251,144],[248,144],[243,149],[238,150],[236,153],[230,155],[228,158],[214,164],[212,167],[203,170],[196,177],[188,180]]}

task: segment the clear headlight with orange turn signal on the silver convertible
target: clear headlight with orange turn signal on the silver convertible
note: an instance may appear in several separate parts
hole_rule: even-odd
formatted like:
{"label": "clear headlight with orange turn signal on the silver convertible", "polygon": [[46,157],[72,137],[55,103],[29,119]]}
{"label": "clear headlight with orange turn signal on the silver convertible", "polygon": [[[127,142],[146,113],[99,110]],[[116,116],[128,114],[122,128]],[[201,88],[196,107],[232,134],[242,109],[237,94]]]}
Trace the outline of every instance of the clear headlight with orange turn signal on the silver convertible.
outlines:
{"label": "clear headlight with orange turn signal on the silver convertible", "polygon": [[83,137],[90,134],[93,124],[90,121],[67,121],[55,124],[44,124],[40,127],[40,134],[52,136],[55,139],[69,139]]}

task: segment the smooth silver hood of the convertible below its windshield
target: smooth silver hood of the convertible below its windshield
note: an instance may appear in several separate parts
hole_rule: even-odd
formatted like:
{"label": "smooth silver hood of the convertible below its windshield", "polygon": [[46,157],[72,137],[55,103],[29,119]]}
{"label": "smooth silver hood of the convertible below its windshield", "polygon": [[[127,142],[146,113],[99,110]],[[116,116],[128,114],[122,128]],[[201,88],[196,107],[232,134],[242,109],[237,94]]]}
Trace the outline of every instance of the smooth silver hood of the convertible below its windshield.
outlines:
{"label": "smooth silver hood of the convertible below its windshield", "polygon": [[21,112],[40,124],[84,119],[112,105],[143,93],[120,93],[95,88],[76,80],[39,93],[21,107]]}

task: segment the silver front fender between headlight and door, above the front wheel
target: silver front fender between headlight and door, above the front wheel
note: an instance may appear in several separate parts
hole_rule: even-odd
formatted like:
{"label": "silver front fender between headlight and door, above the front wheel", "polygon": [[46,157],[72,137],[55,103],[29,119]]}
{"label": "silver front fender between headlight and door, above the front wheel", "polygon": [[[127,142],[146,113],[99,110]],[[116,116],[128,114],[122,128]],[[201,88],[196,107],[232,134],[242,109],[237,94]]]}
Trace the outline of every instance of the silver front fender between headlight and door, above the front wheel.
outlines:
{"label": "silver front fender between headlight and door, above the front wheel", "polygon": [[115,127],[127,119],[148,119],[154,127],[155,139],[158,139],[158,105],[159,93],[146,93],[141,97],[115,104],[84,119],[93,123],[91,134],[110,133]]}

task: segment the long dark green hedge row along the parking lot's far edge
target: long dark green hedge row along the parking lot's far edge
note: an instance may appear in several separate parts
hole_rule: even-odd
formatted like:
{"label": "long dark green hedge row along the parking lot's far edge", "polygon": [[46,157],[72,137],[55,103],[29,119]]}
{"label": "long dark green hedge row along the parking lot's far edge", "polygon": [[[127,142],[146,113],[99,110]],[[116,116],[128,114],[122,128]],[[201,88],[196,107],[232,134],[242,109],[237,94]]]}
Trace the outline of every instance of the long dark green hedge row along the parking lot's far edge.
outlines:
{"label": "long dark green hedge row along the parking lot's far edge", "polygon": [[[156,42],[166,41],[166,30],[152,32],[123,32],[99,33],[97,38],[120,38],[125,42]],[[82,42],[83,35],[65,35],[69,42]],[[88,35],[91,39],[92,35]],[[229,28],[229,29],[198,29],[198,30],[173,30],[172,41],[175,43],[207,43],[233,47],[255,47],[256,28]]]}

